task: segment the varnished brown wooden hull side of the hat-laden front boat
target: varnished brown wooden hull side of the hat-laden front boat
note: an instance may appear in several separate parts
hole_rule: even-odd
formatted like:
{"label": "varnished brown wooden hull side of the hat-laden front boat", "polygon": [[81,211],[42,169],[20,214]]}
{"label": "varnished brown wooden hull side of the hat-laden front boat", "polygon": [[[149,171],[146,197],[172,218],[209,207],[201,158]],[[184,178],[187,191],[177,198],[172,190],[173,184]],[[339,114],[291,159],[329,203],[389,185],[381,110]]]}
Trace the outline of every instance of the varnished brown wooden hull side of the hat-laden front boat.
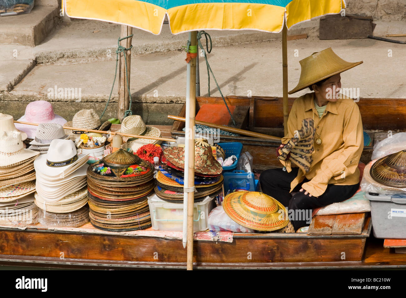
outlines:
{"label": "varnished brown wooden hull side of the hat-laden front boat", "polygon": [[[317,262],[348,265],[362,262],[370,232],[368,219],[358,235],[234,233],[232,242],[195,240],[194,263],[197,268],[272,268],[279,263],[313,266]],[[184,268],[186,250],[180,238],[83,232],[73,228],[70,231],[0,228],[0,264],[17,263],[51,267]]]}

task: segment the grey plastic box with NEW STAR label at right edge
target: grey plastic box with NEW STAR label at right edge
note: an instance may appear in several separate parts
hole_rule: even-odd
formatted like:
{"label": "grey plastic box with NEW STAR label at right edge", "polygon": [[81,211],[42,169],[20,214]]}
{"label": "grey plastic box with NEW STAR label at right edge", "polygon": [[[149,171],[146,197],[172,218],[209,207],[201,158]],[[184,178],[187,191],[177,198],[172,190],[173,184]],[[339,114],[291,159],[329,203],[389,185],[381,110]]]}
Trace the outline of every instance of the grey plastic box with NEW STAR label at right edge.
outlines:
{"label": "grey plastic box with NEW STAR label at right edge", "polygon": [[365,195],[371,202],[374,236],[384,239],[406,239],[406,194]]}

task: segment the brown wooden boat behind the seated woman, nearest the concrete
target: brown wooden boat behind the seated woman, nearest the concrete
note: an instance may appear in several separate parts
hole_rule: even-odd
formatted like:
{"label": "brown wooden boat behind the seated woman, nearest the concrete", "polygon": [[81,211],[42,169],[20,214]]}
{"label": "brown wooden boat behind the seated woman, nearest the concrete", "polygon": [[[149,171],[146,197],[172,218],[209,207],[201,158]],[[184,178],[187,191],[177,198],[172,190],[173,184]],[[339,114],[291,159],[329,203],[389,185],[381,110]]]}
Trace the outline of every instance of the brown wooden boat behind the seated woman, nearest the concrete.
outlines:
{"label": "brown wooden boat behind the seated woman, nearest the concrete", "polygon": [[[289,109],[296,98],[289,98]],[[283,114],[281,97],[226,97],[228,105],[245,107],[246,113],[238,115],[238,128],[283,137]],[[196,110],[204,104],[224,105],[221,97],[197,97]],[[372,139],[372,145],[388,136],[388,131],[396,133],[405,129],[405,99],[359,99],[357,105],[361,112],[363,129]],[[178,116],[185,117],[185,106]],[[239,110],[241,111],[241,109]],[[230,123],[232,124],[232,123]],[[229,125],[230,125],[229,124]],[[230,125],[231,126],[231,125]],[[173,137],[184,135],[184,122],[174,121],[171,129]],[[248,151],[254,157],[254,167],[265,169],[280,167],[275,150],[280,145],[277,141],[246,137],[221,135],[220,141],[240,141],[244,145],[243,152]],[[373,146],[364,147],[361,161],[371,161]]]}

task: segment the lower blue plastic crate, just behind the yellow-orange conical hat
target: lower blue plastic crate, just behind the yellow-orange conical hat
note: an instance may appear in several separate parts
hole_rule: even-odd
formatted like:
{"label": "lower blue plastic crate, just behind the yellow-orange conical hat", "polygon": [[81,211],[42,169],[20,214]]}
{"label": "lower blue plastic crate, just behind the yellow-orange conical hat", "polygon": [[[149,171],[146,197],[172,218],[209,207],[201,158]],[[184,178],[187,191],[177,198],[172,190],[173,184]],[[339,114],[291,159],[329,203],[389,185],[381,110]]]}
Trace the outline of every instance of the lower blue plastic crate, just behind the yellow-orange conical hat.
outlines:
{"label": "lower blue plastic crate, just behind the yellow-orange conical hat", "polygon": [[246,173],[244,171],[235,170],[233,172],[226,172],[224,176],[224,191],[235,189],[245,191],[257,191],[258,180],[255,180],[254,173]]}

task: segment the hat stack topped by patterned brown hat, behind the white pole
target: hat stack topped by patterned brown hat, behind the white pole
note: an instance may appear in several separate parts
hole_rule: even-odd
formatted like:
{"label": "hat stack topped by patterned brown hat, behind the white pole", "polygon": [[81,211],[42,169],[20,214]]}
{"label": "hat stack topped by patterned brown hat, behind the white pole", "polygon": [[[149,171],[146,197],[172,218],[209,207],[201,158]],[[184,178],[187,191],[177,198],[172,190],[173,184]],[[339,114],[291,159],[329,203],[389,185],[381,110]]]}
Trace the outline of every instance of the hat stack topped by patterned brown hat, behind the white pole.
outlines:
{"label": "hat stack topped by patterned brown hat, behind the white pole", "polygon": [[[196,139],[194,155],[194,201],[200,202],[206,196],[222,190],[222,166],[213,156],[206,140]],[[162,164],[156,175],[155,193],[167,202],[183,202],[185,148],[169,147],[164,150]]]}

